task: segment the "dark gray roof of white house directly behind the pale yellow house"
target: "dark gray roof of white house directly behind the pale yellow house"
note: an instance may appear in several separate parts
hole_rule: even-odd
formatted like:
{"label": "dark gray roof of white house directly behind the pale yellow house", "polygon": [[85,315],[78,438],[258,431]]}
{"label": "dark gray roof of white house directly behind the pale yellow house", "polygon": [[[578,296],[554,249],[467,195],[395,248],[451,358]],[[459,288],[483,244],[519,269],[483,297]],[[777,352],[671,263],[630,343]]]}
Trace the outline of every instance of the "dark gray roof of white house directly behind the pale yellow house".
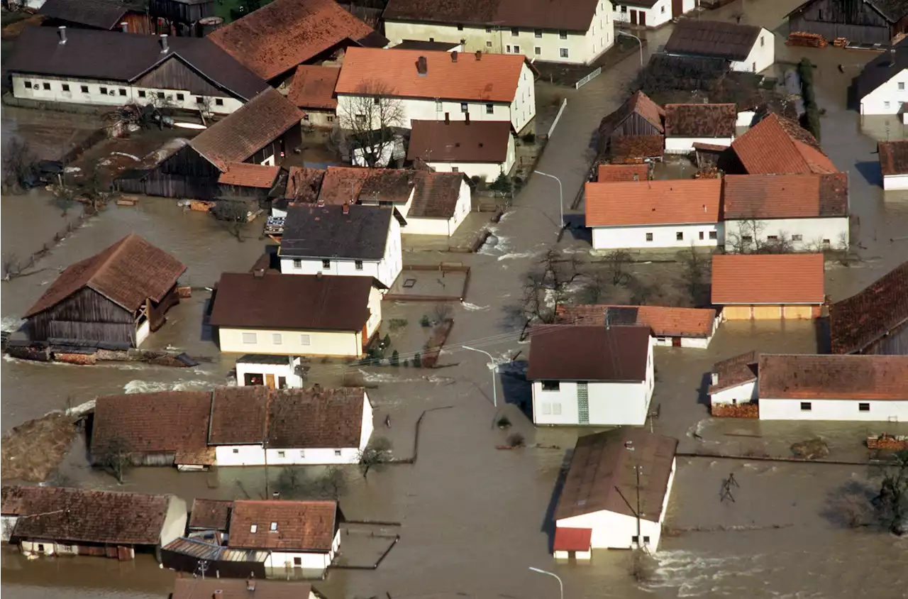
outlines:
{"label": "dark gray roof of white house directly behind the pale yellow house", "polygon": [[[388,243],[391,208],[366,205],[291,205],[281,255],[301,258],[380,260]],[[298,276],[298,275],[294,275]]]}

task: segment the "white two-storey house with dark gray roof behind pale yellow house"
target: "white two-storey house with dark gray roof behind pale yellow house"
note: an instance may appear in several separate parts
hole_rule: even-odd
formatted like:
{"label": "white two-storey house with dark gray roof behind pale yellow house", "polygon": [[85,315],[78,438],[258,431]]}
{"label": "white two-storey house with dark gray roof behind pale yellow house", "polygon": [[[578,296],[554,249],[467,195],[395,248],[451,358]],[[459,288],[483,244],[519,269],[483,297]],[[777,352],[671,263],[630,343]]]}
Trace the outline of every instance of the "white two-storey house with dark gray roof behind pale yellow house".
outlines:
{"label": "white two-storey house with dark gray roof behind pale yellow house", "polygon": [[400,220],[391,207],[291,205],[278,252],[281,273],[369,277],[390,287],[403,267]]}

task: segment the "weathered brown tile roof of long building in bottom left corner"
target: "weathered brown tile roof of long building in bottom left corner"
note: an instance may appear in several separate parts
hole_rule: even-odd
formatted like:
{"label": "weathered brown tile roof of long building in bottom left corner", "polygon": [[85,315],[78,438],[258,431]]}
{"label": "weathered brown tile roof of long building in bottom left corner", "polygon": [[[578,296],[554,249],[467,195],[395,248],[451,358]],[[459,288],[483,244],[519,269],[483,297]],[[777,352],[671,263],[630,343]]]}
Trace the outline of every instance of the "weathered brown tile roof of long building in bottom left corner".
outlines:
{"label": "weathered brown tile roof of long building in bottom left corner", "polygon": [[171,498],[68,487],[4,486],[0,487],[0,514],[31,515],[16,522],[12,533],[17,538],[156,545]]}

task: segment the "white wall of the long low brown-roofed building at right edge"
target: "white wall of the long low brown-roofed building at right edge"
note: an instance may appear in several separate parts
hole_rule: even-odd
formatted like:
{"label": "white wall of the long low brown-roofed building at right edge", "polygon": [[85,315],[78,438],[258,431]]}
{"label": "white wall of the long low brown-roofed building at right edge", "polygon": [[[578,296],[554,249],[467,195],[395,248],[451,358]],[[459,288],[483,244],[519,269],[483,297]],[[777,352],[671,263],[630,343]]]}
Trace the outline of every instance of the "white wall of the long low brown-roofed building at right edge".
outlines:
{"label": "white wall of the long low brown-roofed building at right edge", "polygon": [[[908,394],[899,400],[869,399],[772,399],[761,397],[760,420],[843,420],[855,422],[908,421]],[[811,405],[809,411],[801,403]],[[859,404],[869,404],[862,412]]]}

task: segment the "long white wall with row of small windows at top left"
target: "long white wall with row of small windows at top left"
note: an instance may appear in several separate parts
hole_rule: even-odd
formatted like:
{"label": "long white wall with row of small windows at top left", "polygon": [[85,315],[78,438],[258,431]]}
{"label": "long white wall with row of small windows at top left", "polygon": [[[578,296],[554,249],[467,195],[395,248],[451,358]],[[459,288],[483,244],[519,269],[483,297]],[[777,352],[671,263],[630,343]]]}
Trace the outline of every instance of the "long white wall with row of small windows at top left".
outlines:
{"label": "long white wall with row of small windows at top left", "polygon": [[[31,88],[25,87],[25,82],[31,83]],[[44,84],[50,89],[44,89]],[[69,85],[69,91],[63,90],[63,85]],[[88,86],[88,92],[82,91],[83,85]],[[101,87],[107,89],[107,94],[101,93]],[[125,94],[121,94],[121,90]],[[114,95],[111,95],[114,92]],[[139,93],[144,92],[145,97]],[[133,87],[122,81],[104,81],[100,79],[78,79],[74,77],[54,77],[50,75],[13,75],[13,95],[17,98],[40,100],[44,102],[64,102],[80,105],[120,106],[124,104],[148,104],[157,97],[159,92],[169,98],[173,105],[183,110],[199,110],[196,95],[185,89],[153,89],[150,87]],[[180,100],[178,95],[183,95]],[[221,100],[222,105],[217,105]],[[241,100],[227,96],[211,96],[210,110],[218,115],[229,115],[242,106]]]}

